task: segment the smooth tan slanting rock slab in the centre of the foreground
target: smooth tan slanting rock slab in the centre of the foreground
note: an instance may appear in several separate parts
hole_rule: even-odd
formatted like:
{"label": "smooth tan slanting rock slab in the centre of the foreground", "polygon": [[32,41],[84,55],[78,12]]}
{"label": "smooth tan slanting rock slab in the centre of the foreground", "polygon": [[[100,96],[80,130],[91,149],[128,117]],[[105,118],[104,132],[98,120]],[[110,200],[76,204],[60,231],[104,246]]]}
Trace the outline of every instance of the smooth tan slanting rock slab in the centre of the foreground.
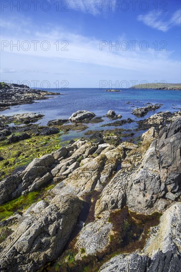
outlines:
{"label": "smooth tan slanting rock slab in the centre of the foreground", "polygon": [[[88,151],[87,148],[89,145],[90,143],[85,143],[82,145],[82,148],[86,146],[86,151]],[[89,193],[96,188],[97,183],[101,185],[101,183],[104,184],[109,180],[109,177],[113,171],[117,169],[118,163],[123,157],[124,151],[121,147],[118,146],[115,148],[109,145],[99,156],[88,160],[88,162],[75,169],[72,174],[63,181],[63,186],[62,184],[57,184],[52,189],[52,192],[55,194],[71,192],[78,196]],[[64,175],[64,168],[62,169],[60,167],[61,165],[57,169],[57,175],[59,176]]]}

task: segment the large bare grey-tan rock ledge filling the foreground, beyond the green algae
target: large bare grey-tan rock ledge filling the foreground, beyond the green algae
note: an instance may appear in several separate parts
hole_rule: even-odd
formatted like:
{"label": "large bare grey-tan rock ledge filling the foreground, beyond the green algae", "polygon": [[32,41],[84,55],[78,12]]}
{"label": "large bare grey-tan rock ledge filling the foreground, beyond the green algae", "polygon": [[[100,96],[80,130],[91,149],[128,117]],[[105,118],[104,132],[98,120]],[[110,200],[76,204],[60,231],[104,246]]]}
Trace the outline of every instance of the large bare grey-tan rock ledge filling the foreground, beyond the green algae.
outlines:
{"label": "large bare grey-tan rock ledge filling the foreground, beyond the green algae", "polygon": [[92,271],[181,272],[181,116],[172,118],[151,123],[138,144],[71,141],[0,181],[0,204],[46,190],[0,222],[0,230],[11,230],[0,242],[0,272],[36,272],[65,256],[73,259],[67,271],[82,272],[86,262],[91,269],[96,261]]}

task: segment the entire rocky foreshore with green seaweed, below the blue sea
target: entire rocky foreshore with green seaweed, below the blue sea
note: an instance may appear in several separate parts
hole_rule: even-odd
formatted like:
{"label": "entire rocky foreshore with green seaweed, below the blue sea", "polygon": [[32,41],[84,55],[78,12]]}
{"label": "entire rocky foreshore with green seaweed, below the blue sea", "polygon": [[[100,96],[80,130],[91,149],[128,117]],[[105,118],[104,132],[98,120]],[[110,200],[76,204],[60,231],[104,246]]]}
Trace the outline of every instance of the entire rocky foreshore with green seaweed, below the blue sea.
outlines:
{"label": "entire rocky foreshore with green seaweed, below the blue sea", "polygon": [[179,272],[181,112],[136,121],[133,142],[117,126],[134,120],[110,110],[112,130],[64,146],[101,117],[42,117],[0,116],[0,271]]}

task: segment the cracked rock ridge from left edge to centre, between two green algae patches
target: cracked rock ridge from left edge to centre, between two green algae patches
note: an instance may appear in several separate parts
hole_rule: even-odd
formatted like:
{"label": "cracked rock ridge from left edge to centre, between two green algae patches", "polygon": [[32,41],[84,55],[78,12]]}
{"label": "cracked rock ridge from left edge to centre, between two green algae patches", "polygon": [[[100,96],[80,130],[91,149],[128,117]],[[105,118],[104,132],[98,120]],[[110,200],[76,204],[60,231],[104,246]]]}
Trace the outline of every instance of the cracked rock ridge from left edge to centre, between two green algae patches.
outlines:
{"label": "cracked rock ridge from left edge to centre, between two green algae patches", "polygon": [[[97,183],[101,186],[107,182],[123,156],[121,147],[77,140],[52,154],[33,160],[24,171],[2,180],[0,204],[35,191],[52,181],[60,182],[53,189],[56,194],[66,191],[83,195],[94,189]],[[82,164],[81,161],[86,158],[89,160]]]}

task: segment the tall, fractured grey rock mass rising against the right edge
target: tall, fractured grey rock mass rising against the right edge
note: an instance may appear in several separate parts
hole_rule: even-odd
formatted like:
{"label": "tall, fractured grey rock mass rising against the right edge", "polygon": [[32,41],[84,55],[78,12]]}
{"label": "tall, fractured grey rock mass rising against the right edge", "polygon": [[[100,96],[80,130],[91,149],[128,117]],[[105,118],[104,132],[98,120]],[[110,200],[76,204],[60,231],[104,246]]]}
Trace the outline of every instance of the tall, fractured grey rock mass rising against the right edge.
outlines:
{"label": "tall, fractured grey rock mass rising against the right edge", "polygon": [[[181,195],[181,119],[164,127],[150,144],[130,151],[122,170],[109,182],[96,204],[96,214],[106,209],[129,209],[149,214],[164,211]],[[140,153],[147,145],[147,151]],[[149,146],[150,144],[150,146]]]}

